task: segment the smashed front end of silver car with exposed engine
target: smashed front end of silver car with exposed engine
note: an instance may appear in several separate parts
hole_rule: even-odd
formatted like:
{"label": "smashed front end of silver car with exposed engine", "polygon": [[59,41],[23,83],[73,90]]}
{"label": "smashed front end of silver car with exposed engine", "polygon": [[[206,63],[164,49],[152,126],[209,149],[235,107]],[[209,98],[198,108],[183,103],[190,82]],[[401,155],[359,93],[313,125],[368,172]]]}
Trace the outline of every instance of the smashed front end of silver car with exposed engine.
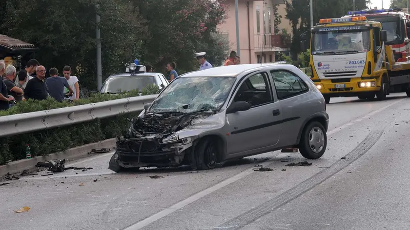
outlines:
{"label": "smashed front end of silver car with exposed engine", "polygon": [[[212,115],[211,111],[190,114],[147,114],[135,117],[122,137],[117,137],[116,152],[110,162],[120,168],[177,167],[189,164],[187,153],[192,151],[198,132],[189,127]],[[194,136],[181,137],[179,131],[187,128]]]}

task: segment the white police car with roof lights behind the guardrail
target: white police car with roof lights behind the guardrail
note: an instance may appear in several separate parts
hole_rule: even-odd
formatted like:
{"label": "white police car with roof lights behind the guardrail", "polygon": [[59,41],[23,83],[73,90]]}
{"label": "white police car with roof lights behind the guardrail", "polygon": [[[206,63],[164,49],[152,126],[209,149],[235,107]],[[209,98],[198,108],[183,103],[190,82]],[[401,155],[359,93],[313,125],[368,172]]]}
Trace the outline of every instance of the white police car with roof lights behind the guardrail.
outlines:
{"label": "white police car with roof lights behind the guardrail", "polygon": [[161,73],[146,72],[146,68],[138,60],[126,67],[125,73],[109,76],[102,84],[100,93],[117,94],[139,90],[140,93],[148,85],[157,85],[160,90],[168,85],[168,81]]}

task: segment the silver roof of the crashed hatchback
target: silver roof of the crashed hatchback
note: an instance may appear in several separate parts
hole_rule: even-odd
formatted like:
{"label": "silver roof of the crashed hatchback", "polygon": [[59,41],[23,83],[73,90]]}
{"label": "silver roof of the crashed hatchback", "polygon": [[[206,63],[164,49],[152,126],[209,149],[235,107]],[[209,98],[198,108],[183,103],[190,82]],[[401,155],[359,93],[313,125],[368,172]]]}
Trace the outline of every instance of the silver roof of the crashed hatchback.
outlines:
{"label": "silver roof of the crashed hatchback", "polygon": [[228,66],[219,66],[201,71],[193,71],[181,75],[179,77],[238,77],[241,73],[264,69],[267,66],[280,66],[287,67],[292,66],[290,64],[281,64],[281,63],[263,63],[263,64],[240,64],[240,65],[228,65]]}

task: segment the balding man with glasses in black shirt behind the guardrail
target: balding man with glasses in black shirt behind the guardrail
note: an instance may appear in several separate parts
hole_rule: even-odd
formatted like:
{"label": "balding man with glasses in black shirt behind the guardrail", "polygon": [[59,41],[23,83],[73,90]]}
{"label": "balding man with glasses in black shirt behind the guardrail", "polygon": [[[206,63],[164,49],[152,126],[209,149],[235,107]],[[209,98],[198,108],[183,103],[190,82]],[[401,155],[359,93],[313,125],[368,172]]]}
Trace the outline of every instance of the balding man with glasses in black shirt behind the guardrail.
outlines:
{"label": "balding man with glasses in black shirt behind the guardrail", "polygon": [[36,77],[27,82],[24,89],[26,99],[45,100],[48,96],[47,85],[45,84],[45,68],[40,65],[36,67]]}

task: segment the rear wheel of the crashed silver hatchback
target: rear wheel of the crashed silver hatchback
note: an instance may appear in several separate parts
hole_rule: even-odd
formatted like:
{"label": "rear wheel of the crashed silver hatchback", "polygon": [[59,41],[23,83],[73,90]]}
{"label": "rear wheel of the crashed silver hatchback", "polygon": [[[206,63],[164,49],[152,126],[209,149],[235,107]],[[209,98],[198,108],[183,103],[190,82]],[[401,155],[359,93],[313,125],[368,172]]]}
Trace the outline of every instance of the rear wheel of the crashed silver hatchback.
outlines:
{"label": "rear wheel of the crashed silver hatchback", "polygon": [[[314,150],[314,148],[312,148],[313,145],[311,145],[309,142],[310,139],[312,139],[314,136],[312,136],[311,131],[319,134],[320,132],[323,136],[323,139],[321,137],[316,137],[320,139],[322,139],[323,143],[318,143],[317,147],[317,151]],[[323,125],[318,122],[318,121],[312,121],[309,122],[303,132],[302,132],[302,136],[300,138],[300,143],[299,143],[299,152],[302,154],[303,157],[307,158],[307,159],[319,159],[320,157],[323,156],[323,154],[326,151],[326,147],[328,145],[328,136],[326,134],[325,128],[323,127]]]}

